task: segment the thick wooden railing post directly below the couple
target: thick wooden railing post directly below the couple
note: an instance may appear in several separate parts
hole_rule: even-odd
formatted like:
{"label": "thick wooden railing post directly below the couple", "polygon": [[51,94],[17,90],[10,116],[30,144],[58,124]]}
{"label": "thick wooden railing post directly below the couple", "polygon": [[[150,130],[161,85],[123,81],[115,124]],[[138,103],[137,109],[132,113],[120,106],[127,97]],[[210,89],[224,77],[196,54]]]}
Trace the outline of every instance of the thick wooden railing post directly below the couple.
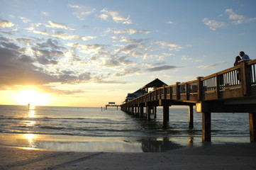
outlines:
{"label": "thick wooden railing post directly below the couple", "polygon": [[241,84],[243,96],[250,95],[250,67],[247,67],[247,61],[240,62]]}

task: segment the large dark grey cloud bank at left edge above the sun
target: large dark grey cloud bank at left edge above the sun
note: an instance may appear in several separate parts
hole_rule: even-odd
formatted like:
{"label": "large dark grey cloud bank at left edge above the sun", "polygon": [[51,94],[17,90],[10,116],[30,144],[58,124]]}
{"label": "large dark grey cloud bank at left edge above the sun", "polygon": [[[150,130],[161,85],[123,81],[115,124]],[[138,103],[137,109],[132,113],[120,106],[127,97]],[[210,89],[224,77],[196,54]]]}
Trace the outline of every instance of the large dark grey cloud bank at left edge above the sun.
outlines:
{"label": "large dark grey cloud bank at left edge above the sun", "polygon": [[28,56],[12,49],[13,45],[9,47],[0,46],[1,85],[47,84],[57,81],[56,77],[38,71]]}

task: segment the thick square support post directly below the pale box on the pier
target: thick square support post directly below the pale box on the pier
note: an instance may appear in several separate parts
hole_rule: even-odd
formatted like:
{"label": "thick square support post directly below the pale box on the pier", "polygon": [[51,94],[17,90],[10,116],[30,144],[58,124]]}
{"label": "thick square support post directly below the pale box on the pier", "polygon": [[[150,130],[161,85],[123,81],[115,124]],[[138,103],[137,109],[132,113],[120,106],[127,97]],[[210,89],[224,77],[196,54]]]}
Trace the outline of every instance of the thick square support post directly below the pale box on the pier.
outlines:
{"label": "thick square support post directly below the pale box on the pier", "polygon": [[211,142],[211,112],[202,113],[202,140]]}

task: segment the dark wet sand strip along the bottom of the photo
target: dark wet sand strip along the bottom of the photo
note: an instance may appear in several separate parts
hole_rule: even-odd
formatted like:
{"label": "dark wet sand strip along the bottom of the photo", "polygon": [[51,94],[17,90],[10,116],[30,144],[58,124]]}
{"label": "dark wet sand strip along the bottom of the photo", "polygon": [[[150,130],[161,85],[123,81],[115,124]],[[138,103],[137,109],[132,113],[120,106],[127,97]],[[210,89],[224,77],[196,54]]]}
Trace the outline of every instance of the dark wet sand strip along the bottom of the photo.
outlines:
{"label": "dark wet sand strip along the bottom of the photo", "polygon": [[256,143],[167,152],[51,152],[0,145],[0,169],[256,169]]}

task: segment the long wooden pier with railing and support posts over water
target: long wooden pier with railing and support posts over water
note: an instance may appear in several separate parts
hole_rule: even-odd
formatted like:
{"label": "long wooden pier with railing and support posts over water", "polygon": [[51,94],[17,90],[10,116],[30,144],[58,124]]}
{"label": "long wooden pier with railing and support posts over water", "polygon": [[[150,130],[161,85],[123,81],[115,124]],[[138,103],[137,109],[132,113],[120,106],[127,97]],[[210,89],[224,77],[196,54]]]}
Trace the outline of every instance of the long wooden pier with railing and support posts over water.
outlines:
{"label": "long wooden pier with railing and support posts over water", "polygon": [[[239,65],[197,77],[193,81],[162,86],[126,101],[121,110],[156,116],[157,106],[162,106],[162,125],[169,122],[169,106],[188,106],[189,128],[194,127],[193,106],[202,113],[202,140],[211,142],[211,113],[249,113],[250,141],[256,142],[256,60],[242,61]],[[239,127],[238,127],[239,128]]]}

